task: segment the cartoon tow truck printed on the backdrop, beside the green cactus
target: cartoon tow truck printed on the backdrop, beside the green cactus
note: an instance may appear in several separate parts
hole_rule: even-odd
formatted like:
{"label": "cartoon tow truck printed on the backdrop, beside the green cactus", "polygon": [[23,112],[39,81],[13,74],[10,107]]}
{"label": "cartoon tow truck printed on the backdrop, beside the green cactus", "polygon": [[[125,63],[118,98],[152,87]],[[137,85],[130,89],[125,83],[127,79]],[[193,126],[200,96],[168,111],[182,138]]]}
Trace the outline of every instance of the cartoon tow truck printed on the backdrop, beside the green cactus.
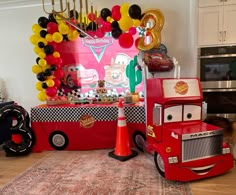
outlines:
{"label": "cartoon tow truck printed on the backdrop, beside the green cactus", "polygon": [[125,75],[126,66],[129,64],[130,57],[126,54],[117,54],[115,60],[111,60],[110,66],[104,66],[107,83],[111,85],[127,86],[128,79]]}

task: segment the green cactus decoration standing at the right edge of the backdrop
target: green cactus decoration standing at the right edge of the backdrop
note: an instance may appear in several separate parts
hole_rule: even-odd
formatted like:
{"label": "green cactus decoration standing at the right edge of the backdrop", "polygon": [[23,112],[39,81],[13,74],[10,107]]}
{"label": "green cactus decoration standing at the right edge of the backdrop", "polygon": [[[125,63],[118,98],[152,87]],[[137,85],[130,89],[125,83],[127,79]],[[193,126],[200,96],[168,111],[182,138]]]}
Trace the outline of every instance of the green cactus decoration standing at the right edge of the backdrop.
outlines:
{"label": "green cactus decoration standing at the right edge of the backdrop", "polygon": [[129,65],[127,65],[126,76],[129,78],[130,93],[135,93],[135,87],[142,81],[142,72],[137,56],[134,56],[134,59],[130,60]]}

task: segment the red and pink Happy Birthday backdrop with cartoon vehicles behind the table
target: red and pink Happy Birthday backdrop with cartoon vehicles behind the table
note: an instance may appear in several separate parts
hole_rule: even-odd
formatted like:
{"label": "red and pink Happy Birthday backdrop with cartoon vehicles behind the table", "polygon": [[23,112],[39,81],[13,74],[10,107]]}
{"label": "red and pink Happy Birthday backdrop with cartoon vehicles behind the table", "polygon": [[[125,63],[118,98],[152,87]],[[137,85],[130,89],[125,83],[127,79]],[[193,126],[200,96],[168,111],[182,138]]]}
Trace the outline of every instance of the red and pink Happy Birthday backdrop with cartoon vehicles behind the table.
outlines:
{"label": "red and pink Happy Birthday backdrop with cartoon vehicles behind the table", "polygon": [[[128,89],[126,67],[137,55],[137,48],[122,48],[110,33],[103,38],[83,38],[58,44],[62,58],[62,85],[66,92],[80,89],[84,93],[93,90],[98,80],[105,80],[107,89],[120,93]],[[136,87],[142,90],[142,84]]]}

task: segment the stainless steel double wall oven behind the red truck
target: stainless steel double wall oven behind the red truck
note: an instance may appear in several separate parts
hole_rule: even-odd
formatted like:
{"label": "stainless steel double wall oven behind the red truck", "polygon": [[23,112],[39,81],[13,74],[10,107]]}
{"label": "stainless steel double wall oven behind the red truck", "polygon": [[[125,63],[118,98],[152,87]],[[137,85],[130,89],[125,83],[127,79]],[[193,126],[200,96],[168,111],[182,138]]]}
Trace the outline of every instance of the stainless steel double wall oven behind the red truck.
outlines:
{"label": "stainless steel double wall oven behind the red truck", "polygon": [[198,58],[207,115],[236,120],[236,46],[200,48]]}

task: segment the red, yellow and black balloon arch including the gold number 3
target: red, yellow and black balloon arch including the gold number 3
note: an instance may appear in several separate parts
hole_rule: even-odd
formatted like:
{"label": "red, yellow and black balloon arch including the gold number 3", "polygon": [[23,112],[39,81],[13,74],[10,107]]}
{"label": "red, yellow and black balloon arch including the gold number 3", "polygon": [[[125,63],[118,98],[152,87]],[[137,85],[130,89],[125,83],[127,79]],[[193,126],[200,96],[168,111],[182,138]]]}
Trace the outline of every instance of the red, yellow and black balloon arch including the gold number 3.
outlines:
{"label": "red, yellow and black balloon arch including the gold number 3", "polygon": [[[79,14],[75,10],[71,10],[68,15],[68,20],[63,20],[57,14],[50,13],[47,17],[39,17],[38,22],[32,25],[30,42],[37,55],[32,72],[38,80],[35,88],[40,101],[57,96],[64,74],[63,59],[57,48],[63,42],[83,39],[86,36],[99,39],[110,33],[125,49],[135,44],[138,50],[145,51],[158,48],[161,44],[164,16],[158,9],[142,12],[137,4],[123,3],[114,5],[111,9],[103,8],[100,15],[88,13],[85,18],[87,23],[79,20]],[[62,17],[66,17],[64,13]],[[139,36],[135,36],[137,33]]]}

